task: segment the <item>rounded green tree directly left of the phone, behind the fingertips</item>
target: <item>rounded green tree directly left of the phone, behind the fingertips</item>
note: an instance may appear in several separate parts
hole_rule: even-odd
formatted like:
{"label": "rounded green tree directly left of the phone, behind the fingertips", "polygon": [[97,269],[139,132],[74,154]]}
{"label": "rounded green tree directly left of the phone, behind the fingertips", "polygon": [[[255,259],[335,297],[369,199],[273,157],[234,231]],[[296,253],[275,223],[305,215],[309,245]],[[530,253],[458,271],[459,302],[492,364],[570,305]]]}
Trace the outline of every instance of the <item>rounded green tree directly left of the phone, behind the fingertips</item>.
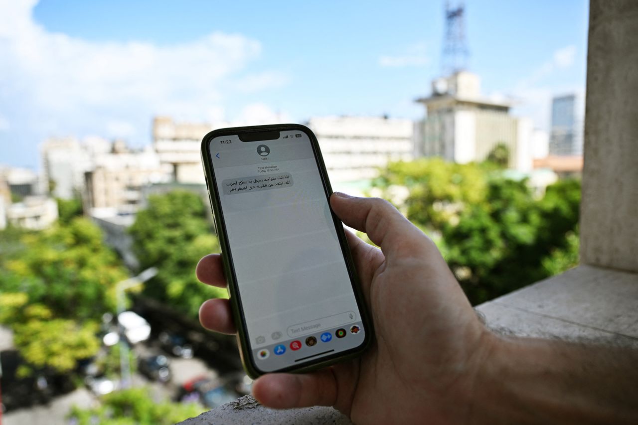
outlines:
{"label": "rounded green tree directly left of the phone, behind the fingertips", "polygon": [[201,257],[219,252],[208,219],[207,205],[197,194],[172,191],[149,197],[130,228],[140,267],[158,267],[143,294],[197,317],[202,302],[226,297],[226,291],[207,287],[195,277]]}

